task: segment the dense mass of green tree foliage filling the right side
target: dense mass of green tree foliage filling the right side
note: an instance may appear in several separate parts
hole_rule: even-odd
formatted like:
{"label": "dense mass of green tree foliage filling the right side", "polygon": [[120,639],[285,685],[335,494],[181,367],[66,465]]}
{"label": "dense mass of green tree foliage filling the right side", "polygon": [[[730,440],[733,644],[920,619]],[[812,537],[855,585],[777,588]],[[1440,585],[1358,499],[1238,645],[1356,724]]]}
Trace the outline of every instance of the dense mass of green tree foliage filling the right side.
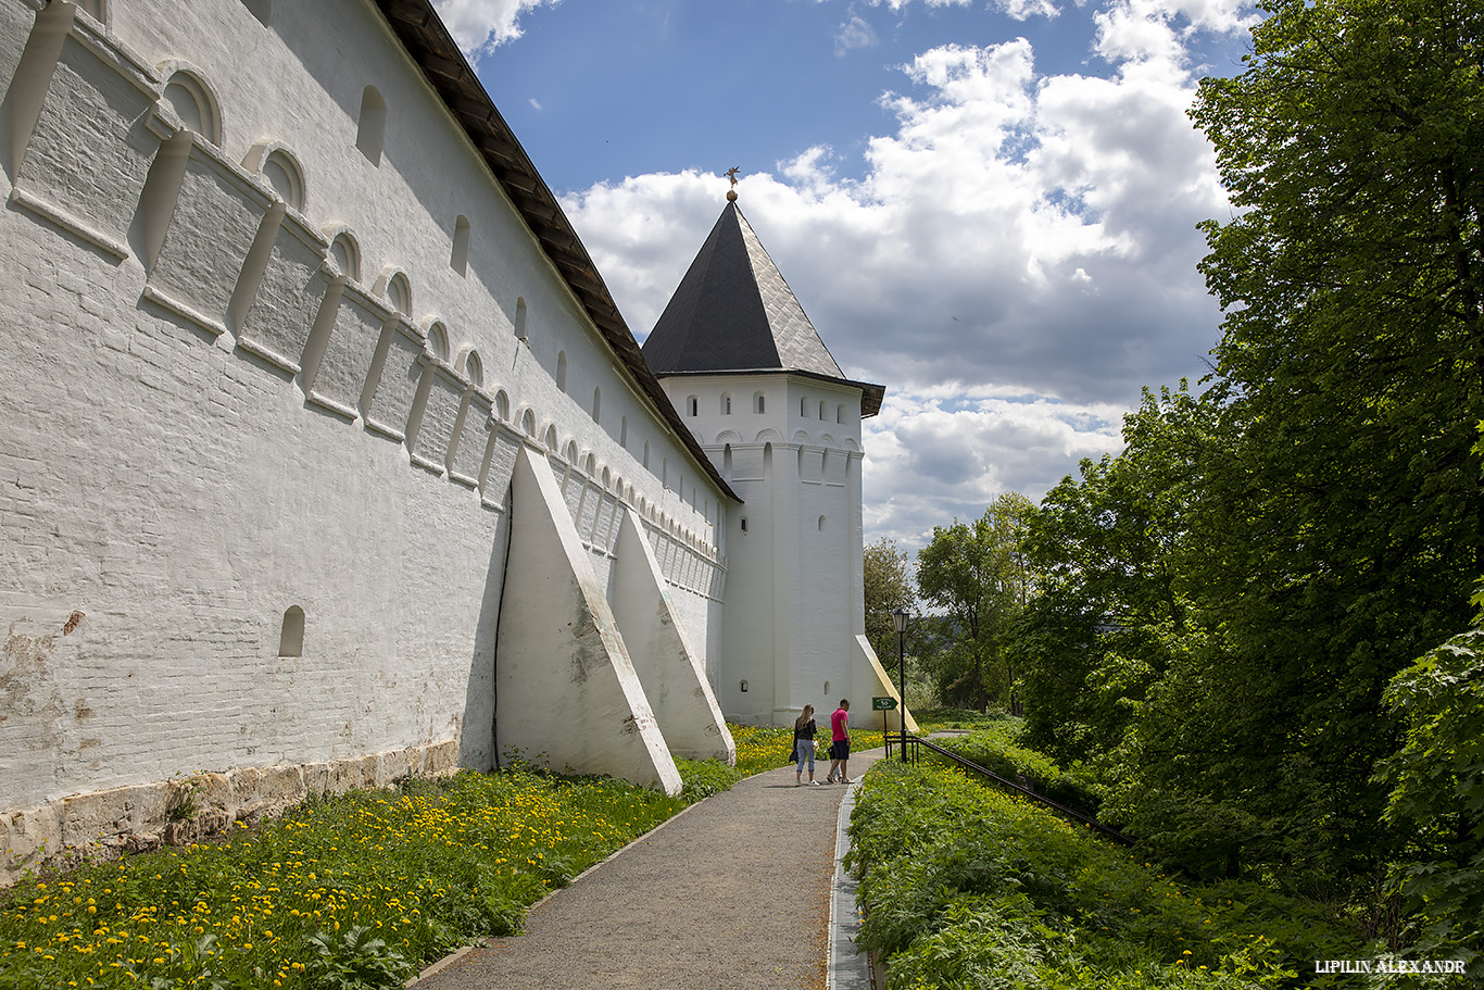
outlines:
{"label": "dense mass of green tree foliage filling the right side", "polygon": [[1147,393],[1046,497],[1011,653],[1034,741],[1103,754],[1152,848],[1374,877],[1408,842],[1388,684],[1484,573],[1484,6],[1267,12],[1192,111],[1236,206],[1204,224],[1209,387]]}

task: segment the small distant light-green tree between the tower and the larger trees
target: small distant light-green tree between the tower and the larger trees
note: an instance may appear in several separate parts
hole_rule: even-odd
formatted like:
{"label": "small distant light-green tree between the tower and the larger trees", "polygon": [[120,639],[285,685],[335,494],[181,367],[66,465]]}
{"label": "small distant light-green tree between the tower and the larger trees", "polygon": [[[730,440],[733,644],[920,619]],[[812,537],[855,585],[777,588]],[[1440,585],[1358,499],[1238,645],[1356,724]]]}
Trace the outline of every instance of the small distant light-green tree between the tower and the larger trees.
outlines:
{"label": "small distant light-green tree between the tower and the larger trees", "polygon": [[939,696],[987,711],[991,702],[1018,708],[1015,668],[1006,652],[1011,622],[1033,592],[1033,571],[1021,542],[1036,506],[1006,493],[974,522],[933,527],[917,552],[917,588],[944,613],[953,646],[939,653]]}

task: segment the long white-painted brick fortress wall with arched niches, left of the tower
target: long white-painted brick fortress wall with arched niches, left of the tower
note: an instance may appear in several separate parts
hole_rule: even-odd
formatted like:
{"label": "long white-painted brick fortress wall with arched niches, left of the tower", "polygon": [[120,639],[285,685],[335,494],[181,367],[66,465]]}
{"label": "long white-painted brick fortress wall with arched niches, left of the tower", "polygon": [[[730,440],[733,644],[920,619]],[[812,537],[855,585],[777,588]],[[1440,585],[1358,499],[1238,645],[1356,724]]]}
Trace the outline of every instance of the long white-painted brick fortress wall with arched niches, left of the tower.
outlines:
{"label": "long white-painted brick fortress wall with arched niches, left of the tower", "polygon": [[374,7],[184,6],[0,0],[0,815],[488,766],[521,444],[714,665],[724,496]]}

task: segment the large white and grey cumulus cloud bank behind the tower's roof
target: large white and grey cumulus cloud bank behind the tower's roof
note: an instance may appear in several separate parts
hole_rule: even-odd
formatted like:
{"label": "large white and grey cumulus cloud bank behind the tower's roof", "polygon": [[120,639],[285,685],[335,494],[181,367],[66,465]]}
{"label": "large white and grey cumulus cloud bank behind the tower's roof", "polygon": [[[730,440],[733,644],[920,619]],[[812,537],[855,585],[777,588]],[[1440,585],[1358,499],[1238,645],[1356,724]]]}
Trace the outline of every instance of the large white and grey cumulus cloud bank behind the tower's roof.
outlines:
{"label": "large white and grey cumulus cloud bank behind the tower's roof", "polygon": [[[1002,491],[1039,497],[1116,448],[1141,386],[1201,373],[1220,313],[1195,224],[1227,203],[1186,116],[1186,47],[1242,10],[1110,0],[1104,76],[1040,73],[1024,39],[922,52],[881,96],[895,126],[859,178],[821,145],[742,180],[739,205],[837,361],[887,386],[867,423],[868,537],[917,545]],[[724,189],[692,171],[564,200],[640,337]]]}

